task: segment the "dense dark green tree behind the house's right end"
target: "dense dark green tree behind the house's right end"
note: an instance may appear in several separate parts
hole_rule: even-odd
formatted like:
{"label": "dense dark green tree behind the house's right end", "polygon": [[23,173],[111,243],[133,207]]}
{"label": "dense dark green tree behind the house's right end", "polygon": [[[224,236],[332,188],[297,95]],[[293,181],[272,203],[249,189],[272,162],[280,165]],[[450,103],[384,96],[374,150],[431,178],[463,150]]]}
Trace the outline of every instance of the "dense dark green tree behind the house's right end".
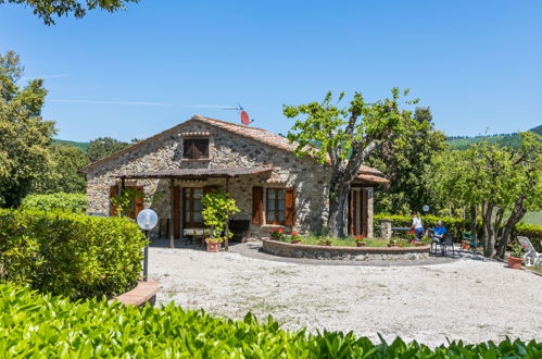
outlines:
{"label": "dense dark green tree behind the house's right end", "polygon": [[390,180],[387,190],[375,194],[378,212],[403,213],[421,211],[424,205],[438,210],[442,205],[431,189],[431,161],[445,148],[445,136],[434,129],[429,108],[414,111],[415,126],[404,126],[399,137],[379,146],[366,163],[385,172]]}

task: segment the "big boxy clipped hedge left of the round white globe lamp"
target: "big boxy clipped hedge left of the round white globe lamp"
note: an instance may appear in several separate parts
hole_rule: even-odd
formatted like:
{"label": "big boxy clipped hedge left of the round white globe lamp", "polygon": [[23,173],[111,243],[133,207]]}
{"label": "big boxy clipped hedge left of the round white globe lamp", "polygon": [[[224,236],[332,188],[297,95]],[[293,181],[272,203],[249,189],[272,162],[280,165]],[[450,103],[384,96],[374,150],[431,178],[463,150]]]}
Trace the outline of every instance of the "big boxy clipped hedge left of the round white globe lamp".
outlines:
{"label": "big boxy clipped hedge left of the round white globe lamp", "polygon": [[126,219],[0,210],[0,280],[72,298],[113,296],[136,284],[144,244]]}

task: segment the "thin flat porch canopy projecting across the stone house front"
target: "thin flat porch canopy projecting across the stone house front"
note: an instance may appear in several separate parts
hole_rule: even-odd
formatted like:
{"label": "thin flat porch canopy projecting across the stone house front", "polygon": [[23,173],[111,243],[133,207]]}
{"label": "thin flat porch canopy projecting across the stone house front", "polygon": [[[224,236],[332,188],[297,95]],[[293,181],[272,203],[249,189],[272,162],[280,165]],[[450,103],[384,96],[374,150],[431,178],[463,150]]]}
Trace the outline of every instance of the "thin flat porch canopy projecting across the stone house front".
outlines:
{"label": "thin flat porch canopy projecting across the stone house front", "polygon": [[117,178],[202,178],[223,177],[231,178],[242,175],[263,174],[273,171],[273,168],[227,168],[227,169],[177,169],[151,172],[122,173]]}

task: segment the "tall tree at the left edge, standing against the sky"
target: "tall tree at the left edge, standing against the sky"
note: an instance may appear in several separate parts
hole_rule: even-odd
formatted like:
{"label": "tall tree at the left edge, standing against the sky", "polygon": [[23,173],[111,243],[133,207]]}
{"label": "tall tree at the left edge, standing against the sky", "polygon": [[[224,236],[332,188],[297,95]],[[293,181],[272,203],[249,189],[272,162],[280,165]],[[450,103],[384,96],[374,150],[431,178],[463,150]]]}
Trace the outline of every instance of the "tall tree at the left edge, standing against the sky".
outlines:
{"label": "tall tree at the left edge, standing against the sky", "polygon": [[0,207],[18,206],[50,163],[54,124],[41,117],[47,90],[42,79],[20,88],[22,75],[15,52],[0,55]]}

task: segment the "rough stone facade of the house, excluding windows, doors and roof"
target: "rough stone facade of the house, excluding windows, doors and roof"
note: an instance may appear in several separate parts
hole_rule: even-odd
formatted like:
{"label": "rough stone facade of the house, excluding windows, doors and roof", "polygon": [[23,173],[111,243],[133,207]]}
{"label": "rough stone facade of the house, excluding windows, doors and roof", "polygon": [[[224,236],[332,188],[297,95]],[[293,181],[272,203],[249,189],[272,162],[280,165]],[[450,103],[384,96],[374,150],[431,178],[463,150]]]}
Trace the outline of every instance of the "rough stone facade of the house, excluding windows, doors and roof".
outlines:
{"label": "rough stone facade of the house, excluding windows, doors and roof", "polygon": [[[210,137],[209,160],[184,160],[182,136],[187,132],[207,132]],[[327,186],[329,171],[311,158],[299,158],[292,152],[272,147],[261,141],[217,128],[206,123],[191,120],[177,126],[149,143],[127,151],[116,158],[104,161],[89,169],[87,173],[88,211],[96,213],[110,212],[110,187],[118,185],[118,174],[134,172],[152,172],[169,169],[213,169],[213,168],[274,168],[272,173],[261,175],[243,175],[230,178],[228,191],[237,200],[241,212],[237,220],[252,219],[252,187],[295,188],[294,230],[300,233],[320,233],[327,221]],[[134,180],[126,181],[126,186],[143,186],[146,208],[153,208],[163,220],[171,213],[169,180]],[[175,181],[174,186],[204,187],[224,186],[225,178],[209,181]],[[369,222],[373,216],[373,191],[370,190]],[[265,201],[265,196],[264,196]],[[264,208],[266,203],[264,202]],[[264,215],[265,218],[265,215]],[[156,230],[157,231],[157,227]],[[269,226],[251,224],[251,235],[267,234]]]}

